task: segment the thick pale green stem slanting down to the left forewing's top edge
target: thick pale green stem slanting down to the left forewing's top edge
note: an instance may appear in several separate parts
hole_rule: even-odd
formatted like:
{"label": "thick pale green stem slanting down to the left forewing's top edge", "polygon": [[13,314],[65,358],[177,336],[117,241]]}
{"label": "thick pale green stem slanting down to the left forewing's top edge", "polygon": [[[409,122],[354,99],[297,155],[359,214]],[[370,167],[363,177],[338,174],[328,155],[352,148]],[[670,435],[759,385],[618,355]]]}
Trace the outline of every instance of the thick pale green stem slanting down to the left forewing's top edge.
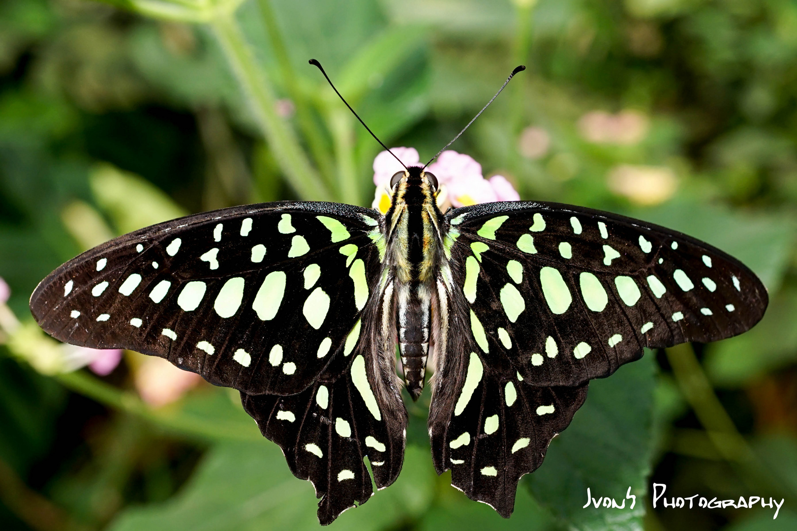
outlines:
{"label": "thick pale green stem slanting down to the left forewing's top edge", "polygon": [[246,44],[234,13],[220,13],[210,27],[224,50],[265,139],[285,172],[285,178],[300,197],[329,201],[331,193],[312,168],[293,131],[277,115],[273,89]]}

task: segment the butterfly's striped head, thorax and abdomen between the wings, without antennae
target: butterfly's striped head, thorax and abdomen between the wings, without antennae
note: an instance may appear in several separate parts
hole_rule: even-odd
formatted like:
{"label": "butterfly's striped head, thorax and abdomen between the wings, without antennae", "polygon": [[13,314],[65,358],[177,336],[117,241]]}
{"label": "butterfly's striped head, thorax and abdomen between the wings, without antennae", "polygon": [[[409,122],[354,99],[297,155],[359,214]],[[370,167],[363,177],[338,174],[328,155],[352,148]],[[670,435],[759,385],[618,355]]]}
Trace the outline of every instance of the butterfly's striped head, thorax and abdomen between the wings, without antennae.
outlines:
{"label": "butterfly's striped head, thorax and abdomen between the wings, without antennae", "polygon": [[387,260],[404,381],[413,399],[423,389],[429,353],[431,294],[435,273],[446,260],[443,217],[435,190],[419,167],[410,167],[395,187],[387,212]]}

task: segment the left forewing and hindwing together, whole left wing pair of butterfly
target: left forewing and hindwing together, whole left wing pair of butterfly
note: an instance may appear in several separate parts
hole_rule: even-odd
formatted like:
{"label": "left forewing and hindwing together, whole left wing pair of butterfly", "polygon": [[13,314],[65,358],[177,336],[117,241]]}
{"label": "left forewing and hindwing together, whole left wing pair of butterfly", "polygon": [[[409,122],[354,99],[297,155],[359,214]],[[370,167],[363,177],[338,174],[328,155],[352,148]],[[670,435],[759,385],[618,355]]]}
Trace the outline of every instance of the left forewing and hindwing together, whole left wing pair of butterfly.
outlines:
{"label": "left forewing and hindwing together, whole left wing pair of butterfly", "polygon": [[381,237],[377,215],[351,205],[202,213],[70,260],[30,307],[61,341],[166,357],[237,388],[293,473],[324,496],[329,523],[370,496],[364,455],[380,487],[402,465],[406,411],[373,326],[381,298],[370,296]]}

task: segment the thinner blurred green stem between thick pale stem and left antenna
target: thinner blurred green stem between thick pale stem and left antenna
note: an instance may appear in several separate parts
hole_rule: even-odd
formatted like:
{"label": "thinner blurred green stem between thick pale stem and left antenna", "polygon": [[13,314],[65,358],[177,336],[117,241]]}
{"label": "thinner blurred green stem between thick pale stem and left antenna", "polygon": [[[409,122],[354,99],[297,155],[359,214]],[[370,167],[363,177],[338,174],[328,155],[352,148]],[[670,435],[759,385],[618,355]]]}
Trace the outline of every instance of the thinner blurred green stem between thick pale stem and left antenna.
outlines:
{"label": "thinner blurred green stem between thick pale stem and left antenna", "polygon": [[285,47],[285,40],[282,38],[280,26],[277,24],[277,18],[274,16],[271,1],[258,0],[257,5],[260,6],[265,30],[266,33],[269,34],[269,42],[271,43],[274,56],[277,57],[277,63],[280,65],[280,72],[285,82],[285,88],[291,100],[293,100],[294,105],[296,105],[296,118],[299,127],[301,127],[301,131],[304,133],[304,138],[307,139],[308,146],[312,151],[312,156],[316,159],[316,166],[320,169],[321,174],[324,175],[328,184],[333,185],[335,171],[333,168],[332,155],[327,149],[326,143],[324,142],[324,135],[321,134],[318,124],[312,119],[308,99],[304,97],[296,81],[296,72],[293,71],[291,66],[290,57]]}

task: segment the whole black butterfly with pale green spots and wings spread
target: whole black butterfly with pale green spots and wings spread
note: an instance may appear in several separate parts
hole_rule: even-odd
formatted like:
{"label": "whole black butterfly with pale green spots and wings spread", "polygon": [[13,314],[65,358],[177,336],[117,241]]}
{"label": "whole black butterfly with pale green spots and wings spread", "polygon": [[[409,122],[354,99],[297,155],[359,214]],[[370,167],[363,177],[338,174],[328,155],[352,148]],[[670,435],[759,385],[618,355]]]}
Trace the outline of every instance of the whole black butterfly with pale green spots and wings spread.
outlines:
{"label": "whole black butterfly with pale green spots and wings spread", "polygon": [[417,399],[427,370],[435,469],[508,517],[591,379],[740,334],[768,304],[752,271],[680,232],[537,201],[442,213],[420,166],[391,188],[385,215],[281,201],[131,232],[58,267],[30,309],[63,342],[238,389],[329,524],[373,494],[366,457],[379,489],[398,477],[402,387]]}

